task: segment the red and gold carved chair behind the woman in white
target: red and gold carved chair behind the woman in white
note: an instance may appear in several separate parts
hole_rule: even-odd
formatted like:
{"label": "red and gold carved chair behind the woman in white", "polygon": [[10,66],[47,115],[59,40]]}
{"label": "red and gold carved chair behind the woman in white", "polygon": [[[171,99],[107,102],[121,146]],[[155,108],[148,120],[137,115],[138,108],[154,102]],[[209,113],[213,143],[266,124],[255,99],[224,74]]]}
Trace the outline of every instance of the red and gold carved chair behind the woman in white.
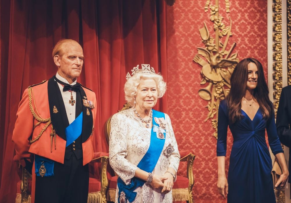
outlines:
{"label": "red and gold carved chair behind the woman in white", "polygon": [[[123,108],[120,110],[126,110],[131,108],[127,103],[123,105]],[[112,117],[112,116],[111,116]],[[111,128],[111,117],[106,122],[106,138],[107,143],[109,144],[109,134]],[[187,177],[177,175],[177,180],[173,186],[173,201],[187,201],[188,203],[193,202],[192,188],[194,185],[194,176],[193,176],[193,162],[195,159],[195,155],[193,151],[179,151],[180,152],[180,162],[187,162]],[[114,173],[112,168],[108,167],[108,190],[107,190],[107,201],[114,202],[115,201],[115,193],[117,186],[117,175]]]}

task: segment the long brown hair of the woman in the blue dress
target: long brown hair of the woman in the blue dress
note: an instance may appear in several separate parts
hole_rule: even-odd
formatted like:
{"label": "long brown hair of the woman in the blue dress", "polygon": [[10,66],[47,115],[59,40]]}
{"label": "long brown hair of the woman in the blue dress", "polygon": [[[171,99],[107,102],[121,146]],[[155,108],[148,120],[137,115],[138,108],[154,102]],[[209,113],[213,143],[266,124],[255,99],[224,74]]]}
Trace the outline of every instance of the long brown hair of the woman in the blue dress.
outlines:
{"label": "long brown hair of the woman in the blue dress", "polygon": [[269,88],[265,80],[264,70],[262,64],[254,58],[246,58],[241,60],[235,67],[233,74],[230,77],[230,92],[226,97],[228,104],[228,118],[232,124],[243,117],[242,97],[246,93],[246,83],[248,81],[248,64],[254,63],[258,68],[257,87],[253,90],[253,97],[260,105],[263,118],[269,119],[273,113],[273,105],[269,99]]}

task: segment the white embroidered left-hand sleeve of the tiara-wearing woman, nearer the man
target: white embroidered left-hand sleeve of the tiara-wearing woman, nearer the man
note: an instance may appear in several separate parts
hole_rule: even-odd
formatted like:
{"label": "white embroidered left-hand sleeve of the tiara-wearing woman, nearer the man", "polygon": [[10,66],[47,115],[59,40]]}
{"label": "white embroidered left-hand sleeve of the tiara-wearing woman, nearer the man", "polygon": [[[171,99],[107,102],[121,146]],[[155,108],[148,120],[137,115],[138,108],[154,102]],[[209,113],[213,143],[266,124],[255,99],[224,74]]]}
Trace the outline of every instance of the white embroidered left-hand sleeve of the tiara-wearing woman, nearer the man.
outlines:
{"label": "white embroidered left-hand sleeve of the tiara-wearing woman, nearer the man", "polygon": [[130,163],[127,157],[127,117],[120,113],[111,118],[111,130],[109,137],[109,163],[117,175],[129,184],[134,177],[137,166]]}

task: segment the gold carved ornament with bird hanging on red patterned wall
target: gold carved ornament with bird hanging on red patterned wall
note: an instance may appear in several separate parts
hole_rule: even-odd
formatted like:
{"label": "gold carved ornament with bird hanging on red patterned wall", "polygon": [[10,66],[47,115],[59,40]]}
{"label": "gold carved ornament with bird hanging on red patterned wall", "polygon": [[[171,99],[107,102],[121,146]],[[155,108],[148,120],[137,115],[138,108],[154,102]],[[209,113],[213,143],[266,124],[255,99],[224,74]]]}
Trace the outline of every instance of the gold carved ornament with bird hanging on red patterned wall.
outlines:
{"label": "gold carved ornament with bird hanging on red patterned wall", "polygon": [[[229,0],[225,0],[226,12],[229,10]],[[209,101],[206,108],[209,113],[204,120],[206,122],[211,119],[211,125],[215,132],[212,134],[217,138],[217,112],[219,102],[224,99],[230,90],[230,76],[238,63],[237,53],[231,54],[236,46],[233,43],[229,50],[226,49],[229,37],[232,36],[231,26],[232,21],[229,18],[230,25],[226,26],[223,23],[223,17],[219,15],[219,0],[215,0],[215,6],[210,4],[210,0],[205,3],[204,10],[207,12],[210,9],[210,21],[213,22],[215,38],[210,36],[206,23],[203,28],[199,29],[200,36],[205,48],[197,48],[198,54],[193,61],[202,66],[201,85],[207,84],[205,88],[198,91],[198,95]],[[221,40],[225,37],[224,42]],[[203,57],[203,58],[201,58]]]}

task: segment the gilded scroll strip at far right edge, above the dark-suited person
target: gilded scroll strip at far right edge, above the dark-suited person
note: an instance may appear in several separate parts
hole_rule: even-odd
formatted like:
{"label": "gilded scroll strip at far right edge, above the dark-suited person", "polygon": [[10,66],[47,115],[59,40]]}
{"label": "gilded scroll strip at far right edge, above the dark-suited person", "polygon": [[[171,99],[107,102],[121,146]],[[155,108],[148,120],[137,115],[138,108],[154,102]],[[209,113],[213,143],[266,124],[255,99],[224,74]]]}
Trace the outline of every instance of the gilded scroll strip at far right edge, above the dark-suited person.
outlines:
{"label": "gilded scroll strip at far right edge, above the dark-suited person", "polygon": [[291,85],[291,0],[287,0],[287,60],[288,85]]}

